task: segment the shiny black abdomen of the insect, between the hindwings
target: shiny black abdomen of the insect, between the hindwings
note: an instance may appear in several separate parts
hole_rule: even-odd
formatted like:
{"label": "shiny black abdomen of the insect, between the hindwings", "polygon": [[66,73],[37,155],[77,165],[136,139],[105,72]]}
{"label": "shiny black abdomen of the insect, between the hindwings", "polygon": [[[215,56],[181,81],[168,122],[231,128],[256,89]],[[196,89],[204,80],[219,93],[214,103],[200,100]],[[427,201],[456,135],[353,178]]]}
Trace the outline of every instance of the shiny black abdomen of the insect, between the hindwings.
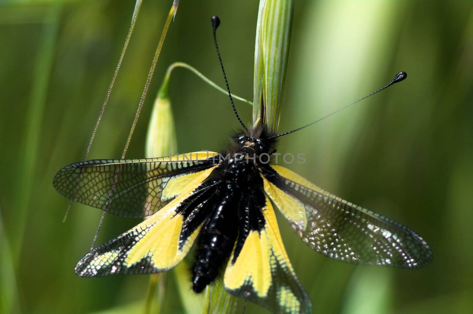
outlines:
{"label": "shiny black abdomen of the insect, between the hindwings", "polygon": [[213,210],[203,227],[197,259],[192,270],[193,290],[201,292],[218,275],[222,263],[230,256],[238,234],[237,204],[228,193]]}

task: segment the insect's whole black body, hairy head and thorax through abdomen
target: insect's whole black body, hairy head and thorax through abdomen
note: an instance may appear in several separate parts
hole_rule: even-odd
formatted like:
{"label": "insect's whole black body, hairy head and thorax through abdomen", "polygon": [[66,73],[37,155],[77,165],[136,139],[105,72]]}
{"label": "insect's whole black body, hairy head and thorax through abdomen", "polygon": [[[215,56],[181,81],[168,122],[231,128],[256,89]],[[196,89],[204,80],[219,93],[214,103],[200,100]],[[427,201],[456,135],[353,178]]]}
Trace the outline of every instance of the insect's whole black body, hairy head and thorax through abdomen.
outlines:
{"label": "insect's whole black body, hairy head and thorax through abdomen", "polygon": [[[270,158],[275,151],[272,133],[256,127],[231,135],[230,142],[219,157],[219,166],[202,184],[212,186],[211,197],[202,198],[207,213],[199,235],[196,259],[192,269],[193,291],[201,292],[226,265],[235,247],[235,262],[251,230],[264,225],[263,154]],[[223,156],[223,158],[222,158]],[[265,160],[267,159],[265,158]],[[197,227],[197,226],[195,226]]]}

